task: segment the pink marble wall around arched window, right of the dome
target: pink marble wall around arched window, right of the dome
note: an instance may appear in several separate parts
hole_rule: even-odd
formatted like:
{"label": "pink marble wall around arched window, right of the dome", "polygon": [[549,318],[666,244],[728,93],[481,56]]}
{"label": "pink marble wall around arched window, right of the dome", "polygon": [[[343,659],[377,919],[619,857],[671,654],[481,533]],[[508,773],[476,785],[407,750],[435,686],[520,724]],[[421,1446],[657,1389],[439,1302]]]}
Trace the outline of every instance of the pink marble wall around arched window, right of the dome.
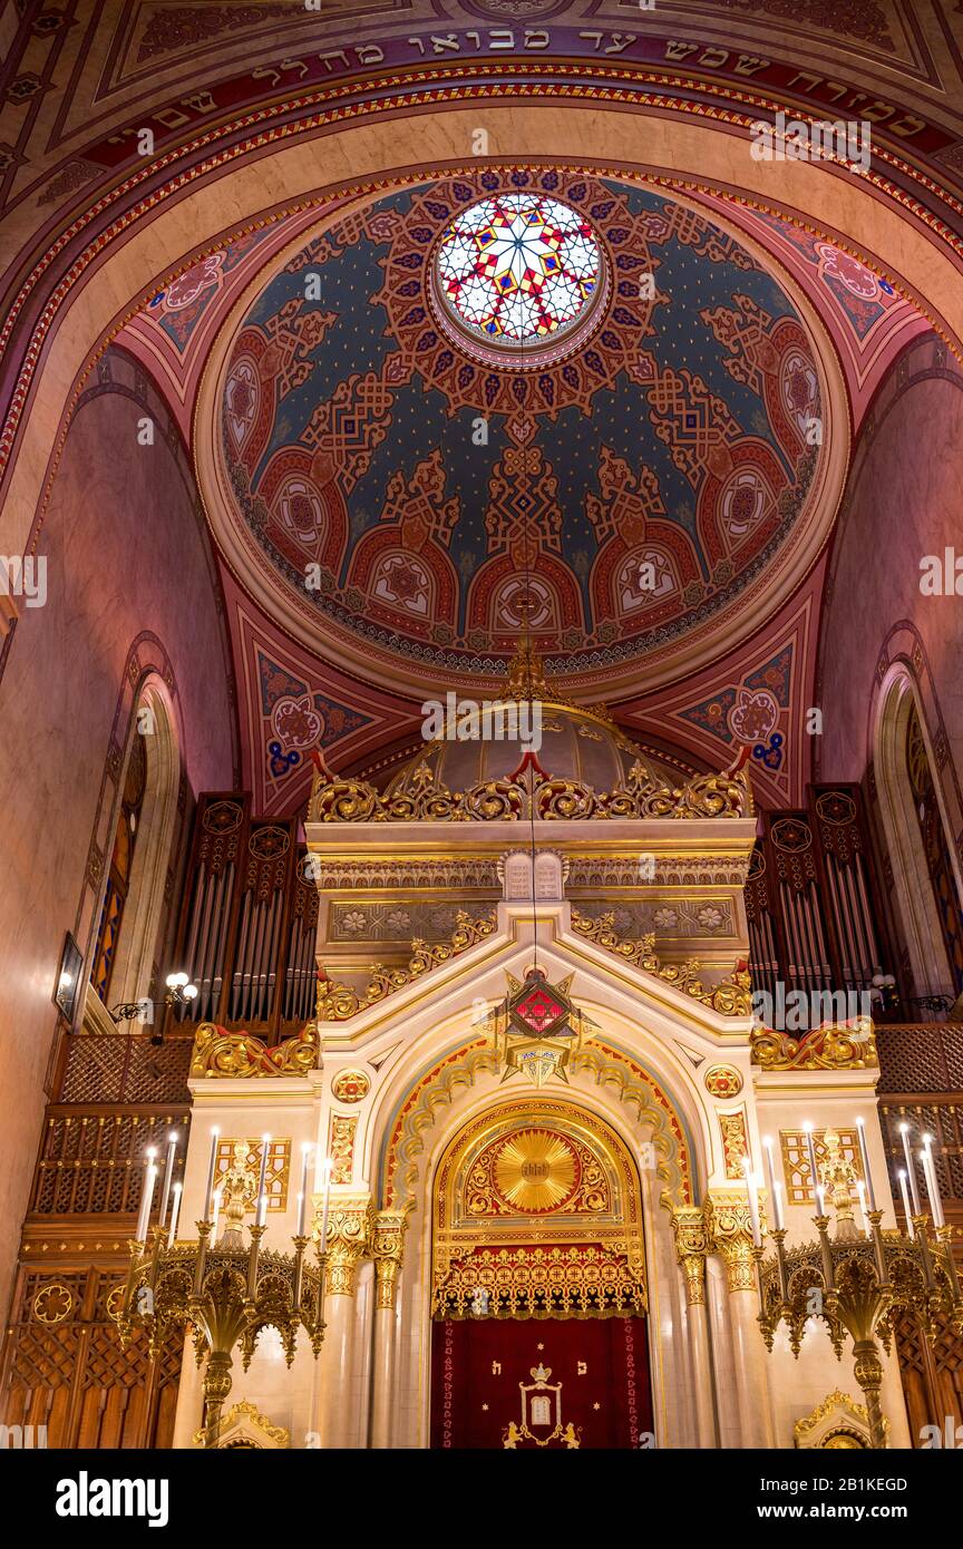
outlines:
{"label": "pink marble wall around arched window, right of the dome", "polygon": [[[963,770],[963,596],[924,596],[920,561],[963,558],[963,376],[932,335],[896,362],[870,412],[830,565],[822,618],[821,779],[862,779],[872,757],[869,706],[882,655],[918,646],[918,678],[955,807]],[[910,630],[898,630],[909,623]],[[957,835],[960,838],[960,835]]]}

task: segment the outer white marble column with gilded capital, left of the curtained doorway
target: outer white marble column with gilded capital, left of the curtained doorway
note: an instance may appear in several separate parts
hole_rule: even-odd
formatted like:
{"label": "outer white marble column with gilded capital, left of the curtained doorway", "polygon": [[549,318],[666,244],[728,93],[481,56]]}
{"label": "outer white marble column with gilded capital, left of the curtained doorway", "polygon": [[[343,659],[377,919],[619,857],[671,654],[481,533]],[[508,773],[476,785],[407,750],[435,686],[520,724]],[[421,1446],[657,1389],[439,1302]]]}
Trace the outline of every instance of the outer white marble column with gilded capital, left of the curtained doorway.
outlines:
{"label": "outer white marble column with gilded capital, left of the curtained doorway", "polygon": [[[314,1197],[316,1231],[320,1231],[322,1196]],[[368,1194],[331,1200],[327,1238],[325,1337],[317,1362],[314,1430],[320,1447],[347,1447],[353,1431],[351,1383],[358,1309],[358,1266],[370,1252],[373,1208]]]}

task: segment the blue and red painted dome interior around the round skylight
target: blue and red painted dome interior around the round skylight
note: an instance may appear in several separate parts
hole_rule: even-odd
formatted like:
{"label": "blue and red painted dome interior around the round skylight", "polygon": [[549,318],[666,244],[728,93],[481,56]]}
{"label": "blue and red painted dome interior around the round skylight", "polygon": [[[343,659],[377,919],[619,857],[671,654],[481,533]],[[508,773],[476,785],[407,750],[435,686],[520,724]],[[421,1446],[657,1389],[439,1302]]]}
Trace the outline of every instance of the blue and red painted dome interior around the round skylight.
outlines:
{"label": "blue and red painted dome interior around the round skylight", "polygon": [[[514,273],[511,220],[548,231]],[[577,301],[565,220],[593,276]],[[409,671],[499,678],[529,627],[573,683],[641,666],[768,579],[827,499],[822,375],[787,290],[703,215],[491,169],[390,194],[268,282],[226,364],[224,485],[320,649],[353,637]]]}

